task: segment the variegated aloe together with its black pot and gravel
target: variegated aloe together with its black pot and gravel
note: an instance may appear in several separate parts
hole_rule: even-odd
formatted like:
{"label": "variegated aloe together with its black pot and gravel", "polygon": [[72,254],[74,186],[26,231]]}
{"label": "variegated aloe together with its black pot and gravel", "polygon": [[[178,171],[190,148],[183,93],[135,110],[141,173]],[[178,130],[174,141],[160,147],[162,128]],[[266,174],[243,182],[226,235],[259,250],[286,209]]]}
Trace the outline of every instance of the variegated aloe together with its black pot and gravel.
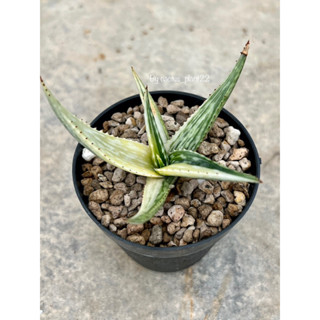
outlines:
{"label": "variegated aloe together with its black pot and gravel", "polygon": [[[92,122],[100,130],[67,111],[41,79],[53,111],[82,145],[77,146],[73,160],[74,185],[82,206],[109,237],[147,268],[176,271],[194,264],[243,217],[255,197],[260,182],[257,149],[243,125],[222,110],[248,49],[249,42],[228,78],[207,100],[182,92],[149,93],[132,68],[142,106],[138,107],[139,96],[116,103]],[[168,105],[162,96],[173,102]],[[222,118],[218,118],[220,112]],[[175,122],[179,114],[181,126]],[[138,133],[140,142],[134,141],[139,140]],[[95,156],[92,163],[83,160],[90,160],[88,154]],[[242,164],[237,166],[237,160]],[[250,162],[254,175],[242,172]],[[178,177],[184,180],[175,187]],[[132,179],[139,183],[132,184]],[[218,181],[223,183],[222,190]],[[174,194],[178,186],[188,197]],[[190,188],[197,189],[188,194]]]}

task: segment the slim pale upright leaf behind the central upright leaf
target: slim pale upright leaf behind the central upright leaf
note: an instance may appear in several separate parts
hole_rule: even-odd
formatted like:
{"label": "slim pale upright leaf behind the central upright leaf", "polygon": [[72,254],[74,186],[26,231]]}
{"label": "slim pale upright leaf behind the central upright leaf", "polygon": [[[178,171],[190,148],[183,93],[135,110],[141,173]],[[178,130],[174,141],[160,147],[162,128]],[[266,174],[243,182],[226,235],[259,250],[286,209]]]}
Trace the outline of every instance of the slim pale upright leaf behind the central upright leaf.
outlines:
{"label": "slim pale upright leaf behind the central upright leaf", "polygon": [[[138,90],[139,90],[139,94],[140,94],[140,98],[141,98],[142,104],[143,104],[144,108],[146,108],[145,102],[144,102],[145,101],[144,95],[146,93],[146,87],[143,84],[143,82],[141,81],[141,79],[139,78],[138,74],[133,69],[133,67],[131,67],[131,70],[132,70],[132,74],[133,74],[134,80],[136,81],[136,85],[137,85]],[[166,128],[166,126],[165,126],[165,124],[163,122],[163,119],[161,117],[160,111],[159,111],[156,103],[154,102],[154,100],[153,100],[153,98],[152,98],[152,96],[151,96],[151,94],[149,92],[148,92],[148,96],[149,96],[151,110],[152,110],[153,116],[155,118],[155,123],[157,125],[160,137],[161,137],[163,143],[165,143],[169,139],[168,130],[167,130],[167,128]]]}

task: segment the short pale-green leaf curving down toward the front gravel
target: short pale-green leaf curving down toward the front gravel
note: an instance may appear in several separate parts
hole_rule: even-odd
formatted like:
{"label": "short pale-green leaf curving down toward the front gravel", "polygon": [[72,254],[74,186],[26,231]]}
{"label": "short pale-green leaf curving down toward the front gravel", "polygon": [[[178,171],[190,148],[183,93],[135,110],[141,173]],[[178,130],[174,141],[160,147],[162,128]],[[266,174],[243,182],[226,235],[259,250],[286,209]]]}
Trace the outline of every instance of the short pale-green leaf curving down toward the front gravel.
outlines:
{"label": "short pale-green leaf curving down toward the front gravel", "polygon": [[149,221],[164,204],[169,194],[170,186],[174,184],[176,179],[176,177],[147,178],[140,210],[135,216],[128,219],[128,223]]}

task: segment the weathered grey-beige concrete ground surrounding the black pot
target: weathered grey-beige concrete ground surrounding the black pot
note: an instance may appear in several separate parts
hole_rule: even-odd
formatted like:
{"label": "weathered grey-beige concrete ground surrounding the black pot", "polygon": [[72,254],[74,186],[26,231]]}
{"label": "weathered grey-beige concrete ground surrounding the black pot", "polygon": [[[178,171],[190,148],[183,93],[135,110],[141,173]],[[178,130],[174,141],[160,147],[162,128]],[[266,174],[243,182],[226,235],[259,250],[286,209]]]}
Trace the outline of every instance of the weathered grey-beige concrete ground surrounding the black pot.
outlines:
{"label": "weathered grey-beige concrete ground surrounding the black pot", "polygon": [[254,138],[264,183],[246,217],[185,271],[144,269],[89,220],[72,184],[76,141],[41,96],[41,319],[279,319],[278,1],[41,1],[42,77],[88,121],[137,93],[131,65],[150,90],[208,96],[248,39],[226,108]]}

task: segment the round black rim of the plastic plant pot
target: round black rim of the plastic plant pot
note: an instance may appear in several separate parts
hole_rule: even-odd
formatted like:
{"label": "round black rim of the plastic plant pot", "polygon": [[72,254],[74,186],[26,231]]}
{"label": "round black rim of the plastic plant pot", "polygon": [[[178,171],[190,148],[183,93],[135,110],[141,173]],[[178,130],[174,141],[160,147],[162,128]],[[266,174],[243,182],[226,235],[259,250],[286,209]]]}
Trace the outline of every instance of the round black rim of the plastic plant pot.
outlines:
{"label": "round black rim of the plastic plant pot", "polygon": [[[201,97],[199,95],[193,94],[193,93],[189,93],[189,92],[183,92],[183,91],[175,91],[175,90],[157,90],[157,91],[151,91],[150,92],[151,95],[162,95],[162,96],[166,96],[166,94],[175,94],[175,95],[181,95],[181,99],[183,99],[183,96],[187,96],[187,97],[191,97],[194,99],[198,99],[201,101],[205,101],[206,98]],[[103,117],[107,112],[109,112],[110,109],[115,109],[117,108],[119,105],[132,100],[132,99],[137,99],[139,97],[139,94],[124,98],[114,104],[112,104],[111,106],[107,107],[104,111],[102,111],[101,113],[99,113],[92,121],[92,123],[95,123],[98,119],[100,119],[101,117]],[[258,150],[254,144],[254,141],[252,139],[252,137],[250,136],[248,130],[245,128],[245,126],[232,114],[230,113],[228,110],[226,109],[222,109],[223,113],[225,113],[227,116],[229,116],[234,122],[236,122],[237,124],[237,128],[240,130],[241,134],[245,135],[250,143],[250,151],[253,153],[253,158],[254,158],[254,162],[255,162],[255,167],[256,167],[256,176],[258,178],[260,178],[260,164],[261,164],[261,159],[259,157],[258,154]],[[108,236],[110,236],[111,238],[114,238],[114,240],[116,241],[120,241],[122,243],[124,243],[124,245],[127,246],[132,246],[133,248],[144,248],[145,250],[149,250],[150,252],[152,251],[183,251],[186,250],[187,248],[196,248],[197,246],[200,245],[204,245],[207,242],[212,241],[213,239],[218,239],[220,237],[223,237],[228,231],[230,231],[230,229],[232,229],[243,217],[244,215],[247,213],[247,211],[249,210],[256,194],[258,191],[258,187],[259,187],[259,183],[253,184],[253,190],[252,190],[252,194],[249,198],[249,200],[246,203],[246,206],[244,207],[243,211],[237,216],[237,219],[235,221],[233,221],[232,223],[230,223],[230,225],[228,227],[226,227],[225,229],[223,229],[222,231],[218,232],[217,234],[210,236],[206,239],[200,240],[196,243],[190,243],[187,244],[185,246],[181,246],[181,247],[149,247],[146,245],[142,245],[139,243],[134,243],[131,241],[128,241],[126,239],[121,238],[120,236],[118,236],[117,234],[111,232],[108,228],[104,227],[101,222],[92,214],[92,212],[89,210],[87,204],[84,202],[84,200],[82,199],[82,195],[80,192],[80,189],[78,187],[77,184],[77,179],[76,179],[76,160],[77,158],[80,156],[81,157],[81,152],[83,149],[83,146],[78,143],[73,155],[73,160],[72,160],[72,179],[73,179],[73,185],[76,191],[76,194],[78,196],[78,199],[82,205],[82,207],[84,208],[84,210],[86,211],[86,213],[89,215],[89,217],[98,225],[98,227],[105,233],[107,233]]]}

